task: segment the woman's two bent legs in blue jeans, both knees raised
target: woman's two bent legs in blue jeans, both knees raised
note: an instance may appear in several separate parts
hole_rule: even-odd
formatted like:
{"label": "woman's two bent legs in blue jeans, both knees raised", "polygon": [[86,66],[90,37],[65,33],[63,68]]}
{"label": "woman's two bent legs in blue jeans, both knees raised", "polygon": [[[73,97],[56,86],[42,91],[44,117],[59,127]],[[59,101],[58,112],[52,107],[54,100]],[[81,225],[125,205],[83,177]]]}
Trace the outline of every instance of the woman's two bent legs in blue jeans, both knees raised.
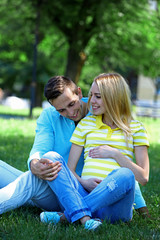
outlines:
{"label": "woman's two bent legs in blue jeans, both knees raised", "polygon": [[[113,171],[88,194],[59,154],[49,152],[43,156],[43,158],[45,157],[62,163],[62,170],[58,173],[58,177],[48,184],[65,208],[68,220],[74,222],[83,214],[90,216],[90,210],[94,213],[101,208],[108,208],[112,205],[117,205],[119,219],[128,221],[132,218],[135,190],[135,178],[132,171],[126,168]],[[111,214],[105,213],[105,218],[110,218]],[[112,212],[112,214],[115,213]]]}

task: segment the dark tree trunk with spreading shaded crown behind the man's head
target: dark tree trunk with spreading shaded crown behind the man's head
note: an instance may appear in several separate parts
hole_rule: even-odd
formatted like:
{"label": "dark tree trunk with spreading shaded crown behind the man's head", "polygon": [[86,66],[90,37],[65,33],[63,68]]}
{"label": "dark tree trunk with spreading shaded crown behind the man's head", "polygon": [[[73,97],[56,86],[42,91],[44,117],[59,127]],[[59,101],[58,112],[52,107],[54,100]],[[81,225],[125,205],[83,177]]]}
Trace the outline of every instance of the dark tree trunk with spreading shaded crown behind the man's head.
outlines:
{"label": "dark tree trunk with spreading shaded crown behind the man's head", "polygon": [[44,1],[45,15],[60,29],[68,43],[65,75],[76,83],[86,60],[85,47],[95,29],[98,29],[97,9],[100,9],[101,2],[103,1]]}

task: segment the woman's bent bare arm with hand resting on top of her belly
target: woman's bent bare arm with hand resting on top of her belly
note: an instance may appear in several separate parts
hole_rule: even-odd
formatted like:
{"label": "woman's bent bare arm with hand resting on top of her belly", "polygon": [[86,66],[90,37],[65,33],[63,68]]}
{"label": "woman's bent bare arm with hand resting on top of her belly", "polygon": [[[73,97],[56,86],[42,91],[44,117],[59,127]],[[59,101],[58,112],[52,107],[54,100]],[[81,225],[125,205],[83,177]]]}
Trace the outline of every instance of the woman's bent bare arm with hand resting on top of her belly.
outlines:
{"label": "woman's bent bare arm with hand resting on top of her belly", "polygon": [[130,161],[119,150],[107,145],[99,146],[90,150],[90,157],[95,158],[113,158],[121,167],[129,168],[135,175],[136,180],[145,185],[149,180],[149,157],[147,146],[135,147],[136,163]]}

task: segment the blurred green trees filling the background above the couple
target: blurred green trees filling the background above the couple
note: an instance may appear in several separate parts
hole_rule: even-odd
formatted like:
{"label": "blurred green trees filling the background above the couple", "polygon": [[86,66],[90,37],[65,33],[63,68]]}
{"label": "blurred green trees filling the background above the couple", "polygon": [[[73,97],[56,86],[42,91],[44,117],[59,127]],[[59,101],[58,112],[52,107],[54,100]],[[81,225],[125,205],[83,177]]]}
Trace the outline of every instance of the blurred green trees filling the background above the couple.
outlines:
{"label": "blurred green trees filling the background above the couple", "polygon": [[157,77],[158,7],[158,0],[1,0],[0,88],[27,98],[36,89],[40,105],[53,75],[71,77],[85,96],[101,72]]}

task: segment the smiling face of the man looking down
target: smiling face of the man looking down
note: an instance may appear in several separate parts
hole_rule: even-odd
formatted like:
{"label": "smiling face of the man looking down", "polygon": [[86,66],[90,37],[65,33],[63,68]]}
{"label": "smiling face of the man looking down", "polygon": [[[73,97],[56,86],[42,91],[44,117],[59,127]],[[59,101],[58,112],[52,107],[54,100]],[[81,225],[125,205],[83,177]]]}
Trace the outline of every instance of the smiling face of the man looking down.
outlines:
{"label": "smiling face of the man looking down", "polygon": [[78,95],[76,95],[69,87],[66,87],[64,93],[56,99],[51,99],[50,103],[63,117],[77,122],[82,118],[81,98],[80,88],[78,88]]}

